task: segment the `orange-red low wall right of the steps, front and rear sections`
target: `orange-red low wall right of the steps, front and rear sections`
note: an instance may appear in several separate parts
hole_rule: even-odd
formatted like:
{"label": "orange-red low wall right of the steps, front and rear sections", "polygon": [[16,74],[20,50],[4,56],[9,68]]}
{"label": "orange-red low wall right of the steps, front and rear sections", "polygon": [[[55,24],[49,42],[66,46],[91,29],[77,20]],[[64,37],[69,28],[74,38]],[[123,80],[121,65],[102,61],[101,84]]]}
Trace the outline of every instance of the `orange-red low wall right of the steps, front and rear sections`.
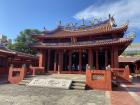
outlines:
{"label": "orange-red low wall right of the steps, front and rear sections", "polygon": [[129,67],[110,70],[86,70],[86,86],[91,89],[112,90],[112,81],[129,82]]}

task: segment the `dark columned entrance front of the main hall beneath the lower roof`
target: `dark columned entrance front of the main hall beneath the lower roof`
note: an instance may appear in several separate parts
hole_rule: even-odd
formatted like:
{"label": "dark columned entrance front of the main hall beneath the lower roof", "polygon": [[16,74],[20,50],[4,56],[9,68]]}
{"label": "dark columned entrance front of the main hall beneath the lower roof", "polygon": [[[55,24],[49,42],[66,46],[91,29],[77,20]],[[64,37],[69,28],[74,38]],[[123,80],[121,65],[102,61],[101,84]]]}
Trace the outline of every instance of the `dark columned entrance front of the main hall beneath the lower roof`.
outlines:
{"label": "dark columned entrance front of the main hall beneath the lower roof", "polygon": [[[63,50],[61,53],[56,50],[47,50],[45,69],[51,72],[79,73],[86,71],[89,64],[92,69],[104,70],[111,64],[111,51],[109,50]],[[48,56],[48,57],[47,57]],[[60,69],[58,69],[60,67]]]}

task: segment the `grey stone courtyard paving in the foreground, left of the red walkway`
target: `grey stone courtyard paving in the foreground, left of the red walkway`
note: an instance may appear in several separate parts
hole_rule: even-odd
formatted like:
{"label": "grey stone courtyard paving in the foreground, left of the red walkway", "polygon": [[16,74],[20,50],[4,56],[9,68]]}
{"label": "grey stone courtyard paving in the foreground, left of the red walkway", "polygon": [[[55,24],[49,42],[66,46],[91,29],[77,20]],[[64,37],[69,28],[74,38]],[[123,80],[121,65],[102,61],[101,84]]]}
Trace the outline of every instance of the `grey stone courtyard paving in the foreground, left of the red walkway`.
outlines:
{"label": "grey stone courtyard paving in the foreground, left of the red walkway", "polygon": [[108,105],[104,91],[0,85],[0,105]]}

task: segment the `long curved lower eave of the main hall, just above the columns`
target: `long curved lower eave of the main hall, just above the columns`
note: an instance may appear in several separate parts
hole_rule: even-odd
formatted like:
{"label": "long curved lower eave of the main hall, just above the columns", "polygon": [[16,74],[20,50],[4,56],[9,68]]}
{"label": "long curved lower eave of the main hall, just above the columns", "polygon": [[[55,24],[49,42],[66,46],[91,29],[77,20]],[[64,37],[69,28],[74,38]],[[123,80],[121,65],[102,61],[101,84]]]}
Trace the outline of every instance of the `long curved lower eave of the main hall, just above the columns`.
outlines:
{"label": "long curved lower eave of the main hall, just above the columns", "polygon": [[[133,41],[133,39],[123,39],[123,40],[119,40],[119,41],[111,41],[111,42],[106,42],[106,41],[102,41],[102,42],[97,42],[97,43],[86,43],[86,44],[67,44],[67,45],[34,45],[32,46],[32,48],[39,48],[39,49],[46,49],[46,48],[53,48],[53,49],[62,49],[62,48],[90,48],[90,47],[102,47],[102,46],[112,46],[112,45],[122,45],[124,46],[123,49],[125,49],[131,42]],[[121,49],[122,50],[122,49]]]}

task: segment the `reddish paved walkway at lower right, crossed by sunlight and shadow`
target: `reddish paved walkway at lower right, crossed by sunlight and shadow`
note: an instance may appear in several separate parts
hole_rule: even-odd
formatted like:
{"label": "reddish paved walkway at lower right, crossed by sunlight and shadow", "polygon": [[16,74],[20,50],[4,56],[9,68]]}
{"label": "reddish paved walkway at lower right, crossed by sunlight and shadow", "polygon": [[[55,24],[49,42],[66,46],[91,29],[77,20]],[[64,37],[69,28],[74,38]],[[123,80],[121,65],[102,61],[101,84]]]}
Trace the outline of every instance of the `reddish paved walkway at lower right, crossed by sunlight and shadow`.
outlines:
{"label": "reddish paved walkway at lower right, crossed by sunlight and shadow", "polygon": [[110,92],[112,105],[140,105],[140,77]]}

